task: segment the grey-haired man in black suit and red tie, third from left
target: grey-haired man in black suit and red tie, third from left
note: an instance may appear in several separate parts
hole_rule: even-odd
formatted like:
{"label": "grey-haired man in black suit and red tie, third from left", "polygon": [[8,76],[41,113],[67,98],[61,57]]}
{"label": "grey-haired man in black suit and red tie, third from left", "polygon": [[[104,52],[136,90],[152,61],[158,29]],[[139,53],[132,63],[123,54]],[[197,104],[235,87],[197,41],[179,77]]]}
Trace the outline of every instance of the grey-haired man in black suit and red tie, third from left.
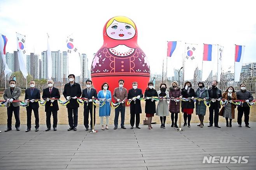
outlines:
{"label": "grey-haired man in black suit and red tie, third from left", "polygon": [[[46,131],[51,129],[51,114],[53,113],[53,130],[57,130],[57,114],[59,110],[58,100],[60,99],[60,92],[58,88],[53,87],[53,80],[47,81],[48,88],[45,88],[43,91],[42,98],[46,100],[45,112],[46,112]],[[50,99],[52,98],[52,99]]]}

